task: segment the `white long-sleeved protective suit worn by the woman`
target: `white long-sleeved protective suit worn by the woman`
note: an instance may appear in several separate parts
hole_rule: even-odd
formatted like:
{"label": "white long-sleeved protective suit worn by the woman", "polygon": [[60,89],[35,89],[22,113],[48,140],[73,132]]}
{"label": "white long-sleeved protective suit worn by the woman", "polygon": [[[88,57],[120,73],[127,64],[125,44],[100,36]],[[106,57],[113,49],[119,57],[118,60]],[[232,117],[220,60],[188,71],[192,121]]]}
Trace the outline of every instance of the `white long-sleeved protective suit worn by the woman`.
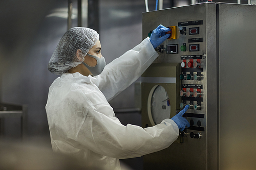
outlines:
{"label": "white long-sleeved protective suit worn by the woman", "polygon": [[119,159],[167,148],[178,137],[172,119],[141,128],[124,126],[108,103],[136,81],[157,58],[150,39],[106,65],[99,76],[63,73],[50,86],[46,105],[52,148],[103,169],[120,169]]}

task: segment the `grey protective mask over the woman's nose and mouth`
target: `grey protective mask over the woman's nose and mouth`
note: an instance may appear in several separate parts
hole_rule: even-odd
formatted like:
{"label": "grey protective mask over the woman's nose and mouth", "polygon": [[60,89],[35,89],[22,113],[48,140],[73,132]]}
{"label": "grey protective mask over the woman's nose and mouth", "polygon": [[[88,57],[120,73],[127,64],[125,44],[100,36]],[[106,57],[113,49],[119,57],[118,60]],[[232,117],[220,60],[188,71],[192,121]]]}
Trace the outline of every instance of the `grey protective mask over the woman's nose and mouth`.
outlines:
{"label": "grey protective mask over the woman's nose and mouth", "polygon": [[104,57],[97,57],[91,54],[87,54],[89,57],[95,58],[97,60],[97,64],[93,67],[89,66],[87,63],[82,62],[84,66],[86,66],[93,74],[93,76],[97,76],[99,74],[101,74],[101,72],[103,71],[106,62],[105,62],[105,58]]}

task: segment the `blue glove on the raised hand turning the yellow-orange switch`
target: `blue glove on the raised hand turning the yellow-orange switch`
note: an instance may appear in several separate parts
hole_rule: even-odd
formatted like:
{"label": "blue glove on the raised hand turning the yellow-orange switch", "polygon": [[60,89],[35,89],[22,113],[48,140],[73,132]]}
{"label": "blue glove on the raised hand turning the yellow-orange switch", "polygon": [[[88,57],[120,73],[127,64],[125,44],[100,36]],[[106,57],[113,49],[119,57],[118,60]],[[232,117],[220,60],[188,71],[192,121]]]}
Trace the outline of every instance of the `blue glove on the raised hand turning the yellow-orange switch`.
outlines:
{"label": "blue glove on the raised hand turning the yellow-orange switch", "polygon": [[152,43],[154,48],[156,48],[170,36],[170,34],[165,34],[168,31],[170,31],[170,29],[162,25],[159,25],[155,30],[153,30],[150,36],[150,42]]}

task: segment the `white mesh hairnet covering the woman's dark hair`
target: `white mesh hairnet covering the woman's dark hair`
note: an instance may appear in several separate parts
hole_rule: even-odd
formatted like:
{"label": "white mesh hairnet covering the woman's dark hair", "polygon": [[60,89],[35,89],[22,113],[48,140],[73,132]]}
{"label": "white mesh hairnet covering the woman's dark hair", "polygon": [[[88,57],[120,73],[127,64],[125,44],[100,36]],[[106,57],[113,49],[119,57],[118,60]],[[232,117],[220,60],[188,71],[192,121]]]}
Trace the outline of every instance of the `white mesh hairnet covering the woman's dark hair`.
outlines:
{"label": "white mesh hairnet covering the woman's dark hair", "polygon": [[[49,63],[48,69],[56,75],[68,71],[70,68],[81,64],[84,56],[95,45],[99,34],[89,28],[75,27],[68,30],[60,39]],[[76,57],[77,50],[82,51],[83,60]]]}

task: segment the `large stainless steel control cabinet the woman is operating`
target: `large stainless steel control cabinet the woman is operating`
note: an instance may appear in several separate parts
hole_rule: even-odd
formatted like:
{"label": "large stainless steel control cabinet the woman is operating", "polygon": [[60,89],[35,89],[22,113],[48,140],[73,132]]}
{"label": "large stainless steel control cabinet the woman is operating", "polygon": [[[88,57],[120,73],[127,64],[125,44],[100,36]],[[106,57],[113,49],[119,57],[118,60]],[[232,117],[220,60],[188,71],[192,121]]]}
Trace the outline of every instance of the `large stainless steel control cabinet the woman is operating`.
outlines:
{"label": "large stainless steel control cabinet the woman is operating", "polygon": [[[177,26],[177,35],[158,46],[159,57],[142,75],[142,126],[154,125],[148,114],[153,85],[179,84],[175,93],[165,88],[180,103],[170,117],[190,105],[190,128],[169,148],[145,155],[144,169],[255,169],[255,16],[256,6],[225,3],[143,13],[143,39],[160,24]],[[161,63],[179,63],[176,82],[165,81],[168,67],[151,71]]]}

